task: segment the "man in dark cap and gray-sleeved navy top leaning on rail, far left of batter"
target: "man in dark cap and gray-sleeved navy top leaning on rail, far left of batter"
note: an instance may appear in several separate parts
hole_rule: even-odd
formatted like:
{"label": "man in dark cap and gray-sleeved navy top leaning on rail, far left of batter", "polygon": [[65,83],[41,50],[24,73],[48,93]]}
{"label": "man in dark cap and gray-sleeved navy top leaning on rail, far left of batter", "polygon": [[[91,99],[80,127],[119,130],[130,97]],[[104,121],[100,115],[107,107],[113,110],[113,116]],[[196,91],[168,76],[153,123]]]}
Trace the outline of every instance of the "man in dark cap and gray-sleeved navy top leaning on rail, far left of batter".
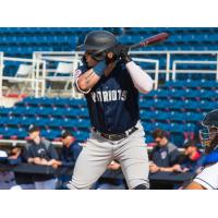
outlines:
{"label": "man in dark cap and gray-sleeved navy top leaning on rail, far left of batter", "polygon": [[[28,129],[31,141],[26,144],[25,157],[28,164],[58,167],[58,154],[51,143],[40,137],[40,130],[35,125]],[[56,178],[52,174],[34,174],[36,190],[55,190]]]}

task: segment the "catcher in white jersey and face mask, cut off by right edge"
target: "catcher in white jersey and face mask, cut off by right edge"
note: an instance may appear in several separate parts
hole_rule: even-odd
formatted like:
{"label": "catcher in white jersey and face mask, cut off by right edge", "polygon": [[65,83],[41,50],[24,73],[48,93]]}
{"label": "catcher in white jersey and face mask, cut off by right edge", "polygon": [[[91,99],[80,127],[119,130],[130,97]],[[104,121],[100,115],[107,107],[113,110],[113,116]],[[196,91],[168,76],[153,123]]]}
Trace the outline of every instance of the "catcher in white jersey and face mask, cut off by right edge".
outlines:
{"label": "catcher in white jersey and face mask, cut off by right edge", "polygon": [[[187,190],[217,190],[218,189],[218,109],[206,114],[202,124],[207,130],[199,131],[202,144],[205,153],[209,154],[214,162],[206,167],[193,182],[187,185]],[[214,157],[214,158],[213,158]],[[216,158],[215,158],[216,157]],[[210,161],[211,162],[211,161]]]}

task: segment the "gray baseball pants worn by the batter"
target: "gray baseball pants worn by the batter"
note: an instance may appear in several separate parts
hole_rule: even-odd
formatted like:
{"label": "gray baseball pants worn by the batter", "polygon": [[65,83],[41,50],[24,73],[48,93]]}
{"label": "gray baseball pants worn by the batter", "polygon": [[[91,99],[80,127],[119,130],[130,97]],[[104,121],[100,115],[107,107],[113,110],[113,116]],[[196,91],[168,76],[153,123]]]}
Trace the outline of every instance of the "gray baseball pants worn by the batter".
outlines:
{"label": "gray baseball pants worn by the batter", "polygon": [[142,124],[120,141],[109,141],[93,132],[83,147],[68,184],[71,190],[88,190],[102,175],[111,160],[118,160],[129,189],[140,184],[149,187],[148,155]]}

